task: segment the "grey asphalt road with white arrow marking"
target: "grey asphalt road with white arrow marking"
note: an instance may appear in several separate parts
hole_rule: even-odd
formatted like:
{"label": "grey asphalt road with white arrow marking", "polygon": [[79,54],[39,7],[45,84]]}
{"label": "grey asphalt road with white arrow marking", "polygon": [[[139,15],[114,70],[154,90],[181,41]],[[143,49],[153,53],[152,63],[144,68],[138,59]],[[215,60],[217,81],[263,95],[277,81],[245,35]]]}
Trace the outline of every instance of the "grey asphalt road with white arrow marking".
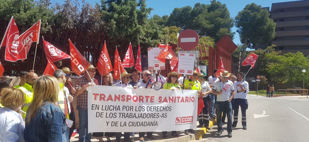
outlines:
{"label": "grey asphalt road with white arrow marking", "polygon": [[[216,136],[217,125],[204,135],[205,141],[309,141],[309,98],[282,96],[266,98],[248,95],[247,130],[242,129],[241,111],[236,128],[232,128],[232,138],[227,137],[226,124],[224,132]],[[298,112],[298,113],[294,112]],[[253,114],[266,117],[254,118]],[[226,120],[227,121],[227,120]],[[203,140],[199,140],[203,141]]]}

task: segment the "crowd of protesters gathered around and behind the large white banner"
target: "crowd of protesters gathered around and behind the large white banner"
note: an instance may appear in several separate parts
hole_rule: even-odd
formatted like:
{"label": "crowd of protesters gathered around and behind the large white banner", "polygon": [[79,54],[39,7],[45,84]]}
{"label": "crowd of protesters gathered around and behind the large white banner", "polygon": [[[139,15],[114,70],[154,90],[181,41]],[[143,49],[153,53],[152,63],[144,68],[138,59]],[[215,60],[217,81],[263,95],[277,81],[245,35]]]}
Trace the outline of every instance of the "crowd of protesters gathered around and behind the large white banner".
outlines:
{"label": "crowd of protesters gathered around and behind the large white banner", "polygon": [[[76,80],[75,85],[69,81],[72,71],[63,67],[54,71],[53,76],[38,76],[34,71],[22,71],[19,75],[19,85],[13,87],[12,79],[0,78],[0,142],[26,141],[57,141],[68,142],[73,130],[78,128],[79,142],[89,142],[91,137],[97,137],[103,141],[103,136],[108,141],[115,136],[116,141],[121,140],[121,132],[94,132],[88,133],[88,87],[99,85],[95,79],[96,67],[87,68],[87,74]],[[142,73],[133,71],[121,73],[120,78],[114,79],[111,73],[102,76],[101,85],[147,88],[152,74],[149,70]],[[231,80],[228,80],[231,77]],[[248,82],[243,80],[243,73],[232,75],[227,71],[214,70],[210,77],[206,77],[197,71],[188,79],[170,72],[167,79],[161,78],[166,83],[163,89],[189,89],[197,90],[198,98],[203,99],[204,108],[198,114],[198,127],[210,130],[209,121],[217,119],[218,133],[223,132],[222,123],[227,116],[228,137],[232,136],[232,128],[238,122],[239,106],[242,113],[242,126],[247,129],[246,110],[248,109],[247,94]],[[73,87],[74,86],[74,87]],[[274,90],[270,87],[269,91]],[[73,99],[77,99],[77,107],[72,105]],[[75,113],[78,110],[79,126],[76,127]],[[210,110],[210,112],[209,112]],[[25,115],[26,114],[26,115]],[[223,115],[222,115],[223,114]],[[232,122],[232,117],[234,118]],[[146,132],[147,138],[154,140],[153,132]],[[184,131],[184,134],[196,134],[193,129]],[[124,132],[124,141],[134,142],[130,136],[139,135],[139,140],[144,141],[145,132]],[[180,137],[176,131],[171,136]],[[162,132],[163,138],[168,138],[167,132]]]}

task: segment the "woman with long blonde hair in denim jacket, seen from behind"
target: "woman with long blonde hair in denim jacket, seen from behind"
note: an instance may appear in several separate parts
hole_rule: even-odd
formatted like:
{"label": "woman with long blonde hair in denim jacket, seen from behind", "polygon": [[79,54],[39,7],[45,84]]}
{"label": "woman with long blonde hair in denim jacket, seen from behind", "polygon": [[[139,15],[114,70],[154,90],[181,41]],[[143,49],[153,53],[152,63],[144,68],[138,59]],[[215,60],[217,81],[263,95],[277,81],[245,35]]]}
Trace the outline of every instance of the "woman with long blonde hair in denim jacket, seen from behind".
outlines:
{"label": "woman with long blonde hair in denim jacket, seen from behind", "polygon": [[57,103],[58,80],[50,75],[40,76],[33,85],[33,100],[26,115],[26,142],[68,142],[66,116]]}

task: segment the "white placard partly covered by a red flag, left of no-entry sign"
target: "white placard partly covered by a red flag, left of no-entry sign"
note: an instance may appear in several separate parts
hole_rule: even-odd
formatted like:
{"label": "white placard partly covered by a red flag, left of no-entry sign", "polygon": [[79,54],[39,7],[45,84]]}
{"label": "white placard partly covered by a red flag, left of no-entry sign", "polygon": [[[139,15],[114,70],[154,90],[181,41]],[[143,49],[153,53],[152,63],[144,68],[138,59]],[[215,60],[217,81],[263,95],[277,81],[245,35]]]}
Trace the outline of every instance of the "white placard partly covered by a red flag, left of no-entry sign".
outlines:
{"label": "white placard partly covered by a red flag, left of no-entry sign", "polygon": [[165,70],[165,63],[158,59],[158,55],[164,48],[148,48],[148,69]]}

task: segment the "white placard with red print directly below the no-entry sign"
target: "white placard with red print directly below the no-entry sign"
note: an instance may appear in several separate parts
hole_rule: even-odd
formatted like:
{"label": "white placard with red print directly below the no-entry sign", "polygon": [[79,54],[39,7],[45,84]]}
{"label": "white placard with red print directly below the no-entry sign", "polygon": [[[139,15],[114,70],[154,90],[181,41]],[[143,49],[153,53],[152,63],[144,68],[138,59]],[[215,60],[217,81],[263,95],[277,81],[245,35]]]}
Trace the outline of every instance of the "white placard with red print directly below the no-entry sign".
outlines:
{"label": "white placard with red print directly below the no-entry sign", "polygon": [[193,75],[195,57],[193,54],[179,54],[178,73],[184,75]]}

